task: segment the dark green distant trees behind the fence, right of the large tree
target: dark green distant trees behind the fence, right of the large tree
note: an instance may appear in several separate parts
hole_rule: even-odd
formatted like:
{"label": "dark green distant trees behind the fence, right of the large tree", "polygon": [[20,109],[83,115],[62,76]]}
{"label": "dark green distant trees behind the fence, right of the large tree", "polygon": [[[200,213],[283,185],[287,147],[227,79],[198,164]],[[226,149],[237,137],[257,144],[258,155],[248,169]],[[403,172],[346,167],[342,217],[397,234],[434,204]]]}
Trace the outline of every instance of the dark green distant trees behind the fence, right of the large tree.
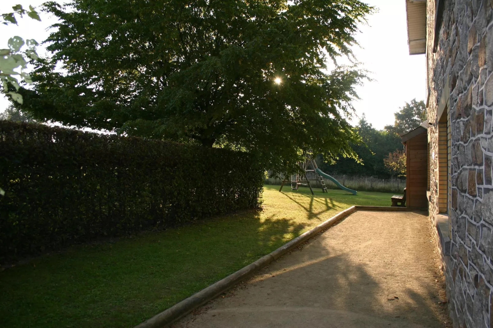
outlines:
{"label": "dark green distant trees behind the fence, right of the large tree", "polygon": [[[357,163],[351,158],[341,158],[335,163],[326,161],[322,158],[317,159],[320,169],[327,173],[348,174],[361,176],[378,176],[379,178],[389,178],[389,173],[384,165],[384,158],[388,153],[402,149],[400,137],[386,130],[377,130],[366,121],[365,116],[359,120],[356,127],[362,138],[362,143],[353,144],[352,147],[361,163]],[[327,163],[328,162],[328,163]]]}

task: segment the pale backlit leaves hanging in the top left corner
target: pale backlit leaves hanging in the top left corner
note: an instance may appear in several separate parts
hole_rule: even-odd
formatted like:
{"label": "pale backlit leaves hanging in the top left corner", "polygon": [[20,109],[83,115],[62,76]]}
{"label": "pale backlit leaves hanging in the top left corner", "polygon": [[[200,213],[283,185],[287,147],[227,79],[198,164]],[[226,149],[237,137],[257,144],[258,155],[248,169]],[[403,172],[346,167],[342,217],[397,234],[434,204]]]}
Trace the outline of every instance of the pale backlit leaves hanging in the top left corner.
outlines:
{"label": "pale backlit leaves hanging in the top left corner", "polygon": [[[22,8],[22,5],[16,4],[12,7],[13,12],[1,14],[0,23],[4,25],[15,24],[17,25],[16,15],[22,17],[28,15],[32,19],[41,21],[38,13],[32,6],[29,6],[29,10]],[[21,53],[21,48],[26,45],[27,49],[25,54],[35,60],[38,58],[36,54],[37,42],[35,39],[28,39],[24,42],[24,39],[20,36],[13,36],[8,40],[8,49],[0,49],[0,83],[2,84],[1,93],[10,97],[13,101],[22,104],[23,98],[17,91],[20,88],[20,82],[32,83],[31,77],[24,71],[27,66],[27,61],[24,54]],[[20,67],[20,71],[15,69]],[[19,75],[20,81],[16,75]]]}

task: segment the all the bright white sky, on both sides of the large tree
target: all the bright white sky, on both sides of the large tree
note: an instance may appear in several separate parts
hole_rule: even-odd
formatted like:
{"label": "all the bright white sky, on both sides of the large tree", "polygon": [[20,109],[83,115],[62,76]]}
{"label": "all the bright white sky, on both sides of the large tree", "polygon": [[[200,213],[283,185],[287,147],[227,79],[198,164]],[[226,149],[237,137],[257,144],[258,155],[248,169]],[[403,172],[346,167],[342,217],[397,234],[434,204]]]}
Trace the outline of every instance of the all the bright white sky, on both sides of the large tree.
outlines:
{"label": "all the bright white sky, on both sides of the large tree", "polygon": [[[0,13],[12,11],[12,6],[20,3],[28,8],[40,6],[46,0],[1,0]],[[370,71],[372,82],[358,87],[361,100],[354,103],[356,114],[366,114],[368,122],[377,129],[393,124],[393,113],[405,101],[425,97],[426,71],[424,55],[409,55],[407,45],[405,0],[363,0],[376,6],[378,12],[368,17],[368,25],[361,26],[356,36],[361,48],[354,47],[356,59],[361,68]],[[63,1],[61,1],[63,2]],[[41,42],[46,39],[48,26],[56,23],[53,17],[40,13],[41,22],[24,17],[18,26],[0,26],[0,48],[7,48],[9,37],[19,35],[24,39],[34,38]],[[38,54],[46,53],[38,47]],[[0,112],[8,106],[8,101],[0,96]],[[354,120],[357,123],[357,119]]]}

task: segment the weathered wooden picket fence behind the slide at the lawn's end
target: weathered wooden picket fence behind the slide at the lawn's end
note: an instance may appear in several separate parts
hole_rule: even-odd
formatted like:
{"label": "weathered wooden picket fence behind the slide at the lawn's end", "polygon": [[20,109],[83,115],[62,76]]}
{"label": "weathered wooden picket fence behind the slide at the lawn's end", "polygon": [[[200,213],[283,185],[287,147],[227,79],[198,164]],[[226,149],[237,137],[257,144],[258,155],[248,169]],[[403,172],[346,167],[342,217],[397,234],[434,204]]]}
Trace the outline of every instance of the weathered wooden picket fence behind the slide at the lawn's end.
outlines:
{"label": "weathered wooden picket fence behind the slide at the lawn's end", "polygon": [[[270,177],[272,172],[268,172],[268,176]],[[327,173],[330,174],[330,173]],[[383,192],[383,193],[399,193],[402,194],[404,188],[406,188],[406,179],[378,179],[375,177],[369,176],[350,176],[350,175],[332,175],[334,179],[339,181],[343,186],[356,190],[356,191],[374,191],[374,192]],[[321,185],[318,182],[318,179],[313,172],[307,172],[307,177],[310,180],[312,188],[320,188]],[[281,185],[284,176],[281,175],[281,178],[266,178],[264,183],[266,185]],[[335,183],[331,180],[323,179],[325,185],[329,189],[338,189]],[[290,186],[290,183],[286,183],[287,186]]]}

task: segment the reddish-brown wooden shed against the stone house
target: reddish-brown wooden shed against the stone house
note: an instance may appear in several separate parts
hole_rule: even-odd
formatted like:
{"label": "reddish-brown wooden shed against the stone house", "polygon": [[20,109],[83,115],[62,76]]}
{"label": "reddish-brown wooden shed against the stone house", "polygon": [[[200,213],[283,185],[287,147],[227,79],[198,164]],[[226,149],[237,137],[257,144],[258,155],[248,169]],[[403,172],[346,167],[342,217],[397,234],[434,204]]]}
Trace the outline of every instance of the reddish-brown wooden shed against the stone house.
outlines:
{"label": "reddish-brown wooden shed against the stone house", "polygon": [[428,208],[428,133],[427,122],[401,134],[406,149],[406,206]]}

